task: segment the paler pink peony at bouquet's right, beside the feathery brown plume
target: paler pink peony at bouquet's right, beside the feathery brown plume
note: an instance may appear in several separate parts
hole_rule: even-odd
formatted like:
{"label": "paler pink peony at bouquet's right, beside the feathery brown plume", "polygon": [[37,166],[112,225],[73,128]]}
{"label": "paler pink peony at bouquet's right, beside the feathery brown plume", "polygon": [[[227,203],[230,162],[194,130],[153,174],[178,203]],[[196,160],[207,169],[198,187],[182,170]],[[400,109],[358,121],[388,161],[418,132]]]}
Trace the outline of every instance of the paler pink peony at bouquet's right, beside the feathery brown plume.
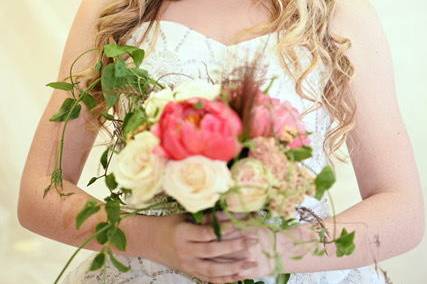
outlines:
{"label": "paler pink peony at bouquet's right, beside the feathery brown plume", "polygon": [[310,143],[300,113],[288,101],[282,102],[260,92],[252,112],[251,137],[273,136],[287,142],[290,148]]}

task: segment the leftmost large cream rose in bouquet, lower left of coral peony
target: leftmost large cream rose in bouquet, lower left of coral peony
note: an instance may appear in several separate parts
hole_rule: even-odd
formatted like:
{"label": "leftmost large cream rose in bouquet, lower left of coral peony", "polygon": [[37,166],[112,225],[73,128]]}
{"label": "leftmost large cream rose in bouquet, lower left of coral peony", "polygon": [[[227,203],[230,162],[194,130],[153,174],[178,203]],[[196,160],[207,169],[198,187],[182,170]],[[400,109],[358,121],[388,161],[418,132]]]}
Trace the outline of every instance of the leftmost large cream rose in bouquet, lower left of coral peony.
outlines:
{"label": "leftmost large cream rose in bouquet, lower left of coral peony", "polygon": [[117,155],[113,168],[117,183],[132,190],[129,205],[143,208],[160,192],[165,160],[153,153],[159,139],[145,131],[135,136]]}

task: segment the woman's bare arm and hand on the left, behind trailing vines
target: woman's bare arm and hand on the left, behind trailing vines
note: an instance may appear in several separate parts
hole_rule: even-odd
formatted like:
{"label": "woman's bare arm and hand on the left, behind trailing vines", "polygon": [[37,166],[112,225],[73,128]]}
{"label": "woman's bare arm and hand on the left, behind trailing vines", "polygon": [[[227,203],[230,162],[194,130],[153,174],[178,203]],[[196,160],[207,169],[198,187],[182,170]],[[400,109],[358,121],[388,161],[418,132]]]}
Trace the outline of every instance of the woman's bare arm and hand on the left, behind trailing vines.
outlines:
{"label": "woman's bare arm and hand on the left, behind trailing vines", "polygon": [[[77,56],[93,48],[96,19],[109,2],[82,1],[66,43],[59,80],[68,76],[70,65]],[[76,71],[85,70],[95,63],[94,56],[84,58],[76,66]],[[50,174],[55,166],[57,144],[62,130],[61,124],[49,122],[49,118],[66,97],[65,92],[55,91],[39,121],[21,178],[18,218],[22,226],[35,233],[79,246],[95,232],[96,224],[106,220],[105,213],[101,210],[91,216],[80,230],[75,228],[77,214],[89,199],[93,199],[76,184],[99,131],[88,128],[94,118],[85,108],[79,119],[70,122],[65,140],[63,189],[66,193],[74,194],[61,198],[55,190],[51,190],[43,198],[43,191],[50,183]],[[229,264],[212,264],[212,268],[206,269],[211,265],[210,261],[202,259],[206,255],[215,257],[241,251],[249,243],[240,235],[230,237],[229,241],[211,243],[216,237],[209,226],[185,223],[181,216],[134,216],[122,221],[120,227],[126,233],[128,242],[126,251],[116,251],[117,253],[143,256],[197,275],[201,279],[206,276],[207,270],[211,271],[211,276],[221,277],[227,275],[224,272],[235,274],[241,270],[242,265],[247,265],[245,260],[237,260]],[[231,226],[228,228],[232,229]],[[100,246],[92,242],[86,248],[99,250]]]}

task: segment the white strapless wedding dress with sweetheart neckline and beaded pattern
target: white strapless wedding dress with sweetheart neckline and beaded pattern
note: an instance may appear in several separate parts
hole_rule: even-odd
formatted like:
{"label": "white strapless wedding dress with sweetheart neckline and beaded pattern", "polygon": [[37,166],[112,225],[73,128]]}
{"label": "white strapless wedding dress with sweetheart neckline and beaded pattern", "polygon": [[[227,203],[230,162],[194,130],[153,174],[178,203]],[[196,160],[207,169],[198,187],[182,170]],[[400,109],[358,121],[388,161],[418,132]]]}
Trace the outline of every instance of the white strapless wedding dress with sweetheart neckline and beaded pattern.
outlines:
{"label": "white strapless wedding dress with sweetheart neckline and beaded pattern", "polygon": [[[128,41],[129,45],[136,45],[147,27],[143,23]],[[154,36],[154,29],[142,43],[142,48],[155,42],[154,49],[147,54],[142,68],[148,70],[154,78],[162,77],[163,83],[176,84],[189,78],[202,78],[206,80],[221,81],[221,76],[227,74],[234,67],[241,65],[258,51],[263,53],[263,62],[268,66],[266,77],[277,77],[269,94],[271,96],[289,100],[301,111],[307,109],[312,103],[300,98],[294,89],[294,81],[283,71],[276,54],[277,37],[275,34],[267,34],[233,45],[225,45],[217,40],[209,38],[187,26],[171,21],[159,23],[158,37]],[[156,40],[155,40],[156,38]],[[301,55],[304,50],[301,49]],[[304,58],[304,57],[302,57]],[[302,59],[304,60],[304,59]],[[165,75],[169,74],[169,75]],[[268,83],[268,82],[267,82]],[[324,86],[322,82],[322,69],[314,70],[306,81],[306,88],[312,90],[313,95],[320,98]],[[327,159],[322,150],[322,142],[329,126],[329,116],[325,109],[319,108],[315,112],[305,116],[304,121],[311,135],[314,155],[305,161],[305,165],[316,173],[326,165]],[[311,208],[321,217],[329,214],[326,200],[317,201],[307,197],[302,204]],[[152,212],[161,215],[163,212]],[[167,245],[167,244],[165,244]],[[88,272],[92,261],[79,265],[71,271],[64,283],[159,283],[159,284],[189,284],[199,283],[168,267],[154,263],[150,260],[138,258],[120,257],[121,261],[131,266],[128,273],[118,272],[112,265],[95,272]],[[270,278],[262,279],[265,283],[275,283]],[[372,267],[362,267],[350,270],[325,271],[317,273],[292,274],[290,284],[350,284],[350,283],[384,283],[383,277]]]}

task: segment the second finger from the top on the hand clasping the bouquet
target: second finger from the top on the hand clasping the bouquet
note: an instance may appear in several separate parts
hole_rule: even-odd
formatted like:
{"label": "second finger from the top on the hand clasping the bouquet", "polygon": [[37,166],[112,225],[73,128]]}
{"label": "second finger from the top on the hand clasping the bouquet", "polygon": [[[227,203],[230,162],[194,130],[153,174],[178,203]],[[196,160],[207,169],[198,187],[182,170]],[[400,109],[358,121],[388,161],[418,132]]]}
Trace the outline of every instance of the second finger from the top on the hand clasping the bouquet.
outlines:
{"label": "second finger from the top on the hand clasping the bouquet", "polygon": [[191,249],[193,254],[199,258],[216,258],[224,255],[233,254],[239,251],[248,250],[251,246],[258,243],[255,239],[233,239],[223,241],[213,241],[205,243],[193,243]]}

